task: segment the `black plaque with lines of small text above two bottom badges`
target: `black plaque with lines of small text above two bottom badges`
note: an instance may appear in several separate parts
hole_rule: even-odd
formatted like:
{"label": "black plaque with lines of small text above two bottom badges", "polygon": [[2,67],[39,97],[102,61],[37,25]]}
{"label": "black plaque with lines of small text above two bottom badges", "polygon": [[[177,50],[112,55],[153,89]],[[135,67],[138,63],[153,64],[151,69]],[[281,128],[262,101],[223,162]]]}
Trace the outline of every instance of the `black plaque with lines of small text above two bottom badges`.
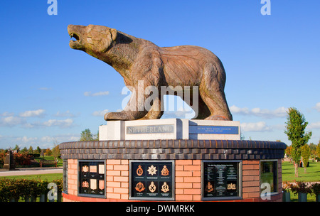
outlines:
{"label": "black plaque with lines of small text above two bottom badges", "polygon": [[203,161],[202,198],[240,198],[240,161]]}

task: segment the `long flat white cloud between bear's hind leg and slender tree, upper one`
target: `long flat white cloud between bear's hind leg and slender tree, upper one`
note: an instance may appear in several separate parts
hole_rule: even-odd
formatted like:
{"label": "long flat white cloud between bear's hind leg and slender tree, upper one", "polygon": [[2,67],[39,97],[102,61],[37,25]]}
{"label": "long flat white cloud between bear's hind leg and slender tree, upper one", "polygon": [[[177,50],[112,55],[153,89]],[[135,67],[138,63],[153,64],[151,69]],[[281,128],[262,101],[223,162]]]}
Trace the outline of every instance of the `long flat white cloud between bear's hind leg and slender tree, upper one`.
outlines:
{"label": "long flat white cloud between bear's hind leg and slender tree, upper one", "polygon": [[260,108],[253,108],[250,110],[247,107],[240,108],[240,107],[236,107],[235,105],[233,105],[232,107],[230,107],[230,112],[233,114],[252,115],[252,116],[256,116],[256,117],[262,117],[265,119],[272,119],[275,117],[286,117],[287,116],[287,108],[285,108],[285,107],[279,107],[274,110],[260,109]]}

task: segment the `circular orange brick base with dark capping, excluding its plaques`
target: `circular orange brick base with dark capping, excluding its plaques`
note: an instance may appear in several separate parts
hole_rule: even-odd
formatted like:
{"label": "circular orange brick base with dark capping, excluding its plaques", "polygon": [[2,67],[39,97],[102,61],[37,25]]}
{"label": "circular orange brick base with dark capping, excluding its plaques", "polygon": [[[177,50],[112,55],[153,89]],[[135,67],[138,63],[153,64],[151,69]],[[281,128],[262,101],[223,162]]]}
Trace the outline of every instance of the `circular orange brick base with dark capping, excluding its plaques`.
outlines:
{"label": "circular orange brick base with dark capping, excluding its plaques", "polygon": [[[281,163],[285,148],[285,144],[271,141],[147,140],[63,143],[60,144],[61,156],[68,160],[68,193],[63,193],[63,200],[128,201],[130,160],[173,160],[174,200],[201,201],[201,162],[238,160],[242,164],[241,199],[230,201],[263,201],[260,198],[260,161],[272,159],[278,165],[278,192],[272,194],[270,200],[281,201]],[[78,195],[78,160],[105,161],[105,198]]]}

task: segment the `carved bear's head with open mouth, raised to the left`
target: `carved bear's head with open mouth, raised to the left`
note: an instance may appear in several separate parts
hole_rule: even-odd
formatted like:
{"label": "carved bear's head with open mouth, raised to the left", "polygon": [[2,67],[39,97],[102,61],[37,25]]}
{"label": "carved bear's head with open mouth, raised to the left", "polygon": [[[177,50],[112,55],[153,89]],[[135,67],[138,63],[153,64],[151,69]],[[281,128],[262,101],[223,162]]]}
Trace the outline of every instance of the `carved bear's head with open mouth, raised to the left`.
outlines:
{"label": "carved bear's head with open mouth, raised to the left", "polygon": [[68,33],[71,38],[70,48],[82,50],[90,55],[105,53],[113,41],[117,38],[117,30],[106,26],[68,26]]}

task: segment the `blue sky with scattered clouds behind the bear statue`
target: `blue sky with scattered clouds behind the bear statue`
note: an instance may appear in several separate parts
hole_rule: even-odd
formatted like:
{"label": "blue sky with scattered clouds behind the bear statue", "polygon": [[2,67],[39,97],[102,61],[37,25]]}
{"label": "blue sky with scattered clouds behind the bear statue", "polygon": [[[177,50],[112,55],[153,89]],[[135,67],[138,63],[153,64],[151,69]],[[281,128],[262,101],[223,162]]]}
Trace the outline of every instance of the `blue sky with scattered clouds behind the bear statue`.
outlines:
{"label": "blue sky with scattered clouds behind the bear statue", "polygon": [[260,0],[58,0],[52,16],[48,6],[1,1],[0,148],[78,141],[84,129],[97,133],[106,124],[106,109],[122,109],[122,77],[71,49],[68,24],[108,26],[159,46],[207,48],[223,62],[225,94],[245,139],[289,145],[286,111],[296,107],[313,131],[309,142],[318,144],[320,1],[271,0],[266,16]]}

